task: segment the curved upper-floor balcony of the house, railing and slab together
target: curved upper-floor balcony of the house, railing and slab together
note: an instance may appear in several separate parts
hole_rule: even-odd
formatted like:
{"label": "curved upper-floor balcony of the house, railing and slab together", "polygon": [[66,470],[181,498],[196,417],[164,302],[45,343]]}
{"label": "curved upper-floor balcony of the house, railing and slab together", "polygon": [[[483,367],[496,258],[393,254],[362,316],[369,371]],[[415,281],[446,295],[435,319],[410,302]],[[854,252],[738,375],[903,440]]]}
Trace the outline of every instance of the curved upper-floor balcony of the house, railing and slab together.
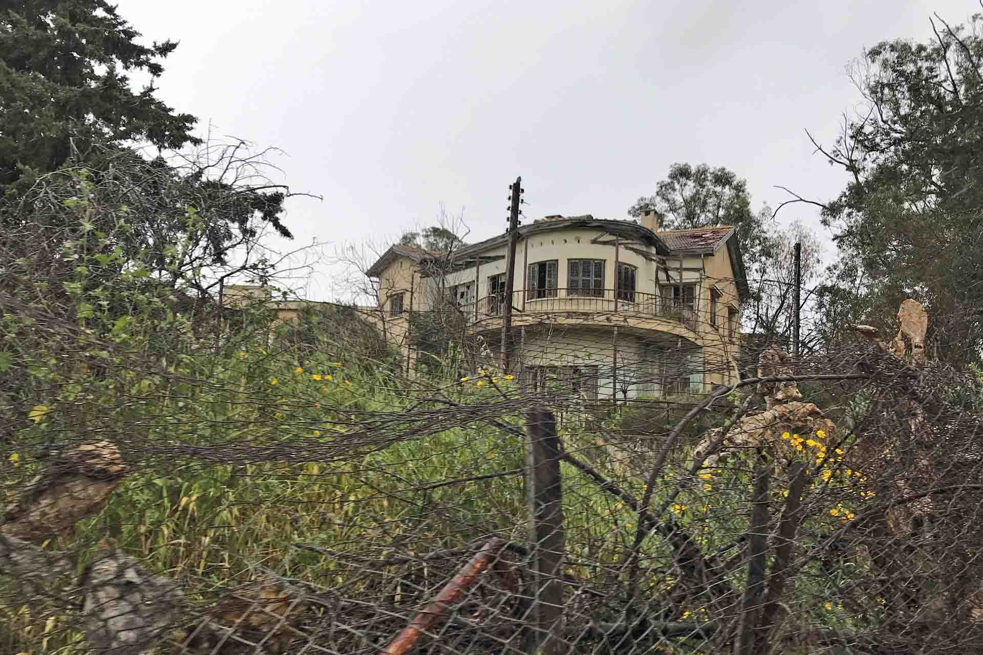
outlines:
{"label": "curved upper-floor balcony of the house, railing and slab together", "polygon": [[[459,305],[476,331],[501,328],[505,294],[494,294]],[[693,338],[697,313],[691,302],[656,294],[613,289],[535,289],[512,294],[512,324],[536,323],[623,325]]]}

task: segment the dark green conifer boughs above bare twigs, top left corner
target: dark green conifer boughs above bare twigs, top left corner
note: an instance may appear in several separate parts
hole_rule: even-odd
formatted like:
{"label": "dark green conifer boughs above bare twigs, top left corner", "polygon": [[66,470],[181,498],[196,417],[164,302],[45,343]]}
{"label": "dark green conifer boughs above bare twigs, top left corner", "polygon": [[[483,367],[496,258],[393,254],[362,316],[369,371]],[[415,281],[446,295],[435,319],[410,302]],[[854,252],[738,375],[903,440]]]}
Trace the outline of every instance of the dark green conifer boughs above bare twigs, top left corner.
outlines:
{"label": "dark green conifer boughs above bare twigs, top left corner", "polygon": [[[27,186],[70,157],[91,162],[95,144],[146,141],[161,148],[200,142],[197,119],[155,97],[152,80],[174,41],[137,42],[140,32],[105,0],[26,0],[0,11],[0,189]],[[125,72],[151,82],[139,92]]]}

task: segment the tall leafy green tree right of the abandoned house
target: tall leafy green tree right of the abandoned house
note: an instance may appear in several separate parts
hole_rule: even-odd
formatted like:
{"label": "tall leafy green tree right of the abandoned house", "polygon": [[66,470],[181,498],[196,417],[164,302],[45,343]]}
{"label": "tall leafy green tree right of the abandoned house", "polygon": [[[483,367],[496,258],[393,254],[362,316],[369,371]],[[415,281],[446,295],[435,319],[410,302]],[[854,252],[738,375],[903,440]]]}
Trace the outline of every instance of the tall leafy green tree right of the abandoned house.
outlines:
{"label": "tall leafy green tree right of the abandoned house", "polygon": [[823,213],[841,256],[822,300],[839,322],[878,326],[920,300],[939,355],[959,362],[983,347],[983,23],[932,25],[934,41],[864,53],[866,111],[821,147],[849,174]]}

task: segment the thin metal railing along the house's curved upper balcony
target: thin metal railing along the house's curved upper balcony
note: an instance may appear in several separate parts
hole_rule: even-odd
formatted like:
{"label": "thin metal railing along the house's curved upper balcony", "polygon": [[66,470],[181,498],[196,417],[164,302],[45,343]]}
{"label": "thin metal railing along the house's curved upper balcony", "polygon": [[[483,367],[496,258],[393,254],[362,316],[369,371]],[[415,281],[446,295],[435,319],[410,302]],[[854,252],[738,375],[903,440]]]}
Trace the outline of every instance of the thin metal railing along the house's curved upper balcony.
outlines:
{"label": "thin metal railing along the house's curved upper balcony", "polygon": [[[460,305],[468,321],[503,316],[505,294],[494,294]],[[512,317],[526,314],[625,313],[665,318],[696,329],[696,310],[691,302],[680,302],[656,294],[619,289],[536,289],[512,294]]]}

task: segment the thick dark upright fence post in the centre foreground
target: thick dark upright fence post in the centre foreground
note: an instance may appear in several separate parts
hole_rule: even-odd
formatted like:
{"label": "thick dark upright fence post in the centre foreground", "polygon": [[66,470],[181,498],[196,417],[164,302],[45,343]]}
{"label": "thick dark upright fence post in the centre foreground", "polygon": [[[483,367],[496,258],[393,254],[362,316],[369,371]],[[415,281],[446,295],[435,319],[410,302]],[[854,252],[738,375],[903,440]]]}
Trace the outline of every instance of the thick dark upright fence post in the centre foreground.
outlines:
{"label": "thick dark upright fence post in the centre foreground", "polygon": [[558,634],[563,613],[563,507],[559,474],[559,437],[548,409],[527,414],[526,490],[530,514],[530,568],[533,601],[527,652],[560,655],[566,651]]}

